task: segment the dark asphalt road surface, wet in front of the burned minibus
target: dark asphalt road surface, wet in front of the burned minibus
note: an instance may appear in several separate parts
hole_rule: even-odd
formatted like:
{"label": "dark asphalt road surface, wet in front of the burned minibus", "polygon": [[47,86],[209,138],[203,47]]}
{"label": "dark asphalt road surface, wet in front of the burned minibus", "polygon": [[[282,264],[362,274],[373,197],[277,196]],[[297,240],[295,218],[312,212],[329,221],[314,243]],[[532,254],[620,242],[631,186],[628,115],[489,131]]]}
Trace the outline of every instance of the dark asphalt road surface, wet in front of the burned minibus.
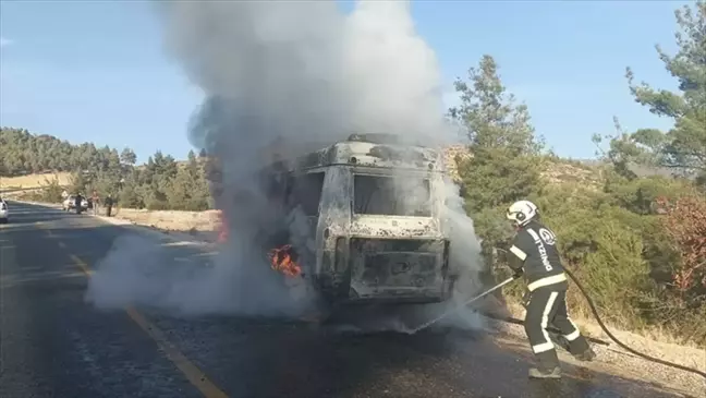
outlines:
{"label": "dark asphalt road surface, wet in front of the burned minibus", "polygon": [[84,301],[86,273],[118,237],[136,232],[40,206],[11,210],[0,226],[2,398],[673,396],[569,364],[561,381],[531,381],[526,351],[482,334],[354,335],[100,311]]}

